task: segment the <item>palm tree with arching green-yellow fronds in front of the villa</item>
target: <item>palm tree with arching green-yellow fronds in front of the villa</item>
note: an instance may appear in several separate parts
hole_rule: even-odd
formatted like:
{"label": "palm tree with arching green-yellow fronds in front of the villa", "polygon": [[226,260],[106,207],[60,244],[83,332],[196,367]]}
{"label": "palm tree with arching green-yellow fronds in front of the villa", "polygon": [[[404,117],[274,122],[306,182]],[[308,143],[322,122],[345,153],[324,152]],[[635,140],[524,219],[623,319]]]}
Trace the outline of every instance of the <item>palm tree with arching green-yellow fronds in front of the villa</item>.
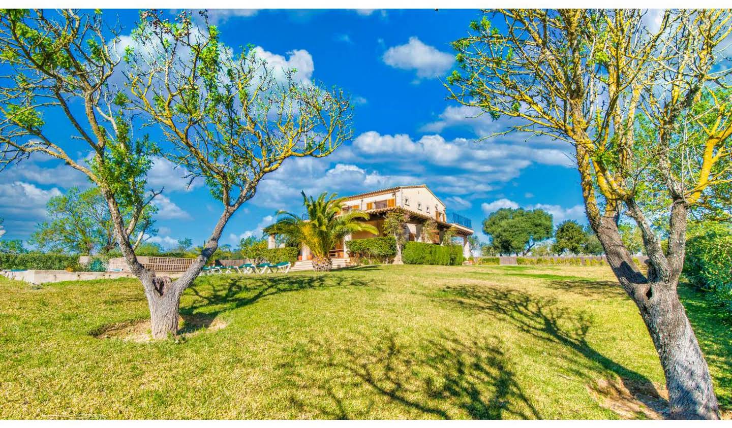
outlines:
{"label": "palm tree with arching green-yellow fronds in front of the villa", "polygon": [[288,211],[277,211],[280,216],[274,225],[264,228],[264,233],[283,235],[299,244],[306,245],[313,253],[313,269],[329,271],[332,266],[330,250],[337,242],[354,232],[370,232],[378,235],[378,229],[359,220],[367,220],[363,211],[343,213],[341,207],[347,198],[337,198],[335,193],[321,193],[318,199],[307,197],[302,192],[303,205],[307,211],[299,217]]}

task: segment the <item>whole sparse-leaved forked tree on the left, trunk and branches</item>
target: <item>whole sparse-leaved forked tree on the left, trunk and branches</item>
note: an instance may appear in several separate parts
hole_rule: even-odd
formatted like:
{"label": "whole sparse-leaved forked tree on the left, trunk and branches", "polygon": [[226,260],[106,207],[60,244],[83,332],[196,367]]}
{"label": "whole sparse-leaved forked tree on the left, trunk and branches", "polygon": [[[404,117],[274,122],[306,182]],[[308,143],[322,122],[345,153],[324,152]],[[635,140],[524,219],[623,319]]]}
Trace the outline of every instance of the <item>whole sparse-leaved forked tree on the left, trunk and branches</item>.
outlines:
{"label": "whole sparse-leaved forked tree on the left, trunk and branches", "polygon": [[[97,184],[119,249],[143,285],[155,338],[176,334],[183,290],[261,179],[285,159],[324,157],[351,137],[343,92],[299,83],[293,70],[272,70],[254,49],[234,53],[202,15],[198,27],[190,12],[173,21],[142,12],[131,37],[121,37],[99,11],[0,12],[0,61],[12,73],[0,83],[2,162],[47,154]],[[45,126],[50,110],[91,151],[86,162],[70,155],[67,136]],[[162,130],[159,143],[135,136],[145,126]],[[198,256],[175,280],[146,269],[130,243],[141,213],[162,191],[145,191],[153,156],[205,181],[222,206]],[[133,207],[128,222],[120,206]]]}

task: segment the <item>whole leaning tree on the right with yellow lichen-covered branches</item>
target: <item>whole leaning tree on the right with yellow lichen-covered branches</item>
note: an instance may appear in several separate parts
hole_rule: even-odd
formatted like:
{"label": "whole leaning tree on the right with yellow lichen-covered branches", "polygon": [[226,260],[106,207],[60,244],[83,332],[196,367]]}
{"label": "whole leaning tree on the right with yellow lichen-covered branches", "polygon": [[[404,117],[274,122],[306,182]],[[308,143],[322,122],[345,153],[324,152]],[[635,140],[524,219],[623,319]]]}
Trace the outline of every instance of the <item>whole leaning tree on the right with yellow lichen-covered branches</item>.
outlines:
{"label": "whole leaning tree on the right with yellow lichen-covered branches", "polygon": [[[732,181],[731,100],[715,96],[727,84],[720,50],[732,17],[667,10],[657,28],[644,18],[640,10],[487,11],[454,42],[459,67],[448,88],[463,105],[507,120],[507,132],[573,147],[589,224],[653,339],[671,416],[719,418],[676,288],[687,214],[714,206]],[[621,239],[621,216],[641,230],[647,271]]]}

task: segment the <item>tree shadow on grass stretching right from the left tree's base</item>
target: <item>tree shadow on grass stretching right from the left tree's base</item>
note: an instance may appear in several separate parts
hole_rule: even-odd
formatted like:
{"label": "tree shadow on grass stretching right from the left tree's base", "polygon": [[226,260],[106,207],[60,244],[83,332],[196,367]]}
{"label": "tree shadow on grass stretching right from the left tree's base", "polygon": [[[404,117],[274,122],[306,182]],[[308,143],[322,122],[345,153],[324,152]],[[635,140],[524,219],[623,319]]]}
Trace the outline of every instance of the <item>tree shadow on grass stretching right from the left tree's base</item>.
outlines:
{"label": "tree shadow on grass stretching right from the left tree's base", "polygon": [[192,295],[188,296],[189,299],[194,299],[190,303],[181,304],[179,313],[185,323],[179,333],[209,328],[221,313],[254,304],[268,296],[302,290],[375,286],[372,281],[335,275],[255,277],[232,274],[202,279],[186,290],[186,294]]}

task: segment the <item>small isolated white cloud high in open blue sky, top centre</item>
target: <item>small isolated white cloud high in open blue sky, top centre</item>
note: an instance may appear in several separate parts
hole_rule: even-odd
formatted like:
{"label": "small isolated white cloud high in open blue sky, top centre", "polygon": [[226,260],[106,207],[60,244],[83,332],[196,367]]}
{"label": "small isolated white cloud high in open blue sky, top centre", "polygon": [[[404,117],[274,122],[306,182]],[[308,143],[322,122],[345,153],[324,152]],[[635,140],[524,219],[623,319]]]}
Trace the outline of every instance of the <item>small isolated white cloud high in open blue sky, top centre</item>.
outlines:
{"label": "small isolated white cloud high in open blue sky, top centre", "polygon": [[392,46],[382,57],[384,63],[401,70],[417,70],[417,78],[436,78],[452,67],[455,58],[417,37],[409,37],[406,45]]}

